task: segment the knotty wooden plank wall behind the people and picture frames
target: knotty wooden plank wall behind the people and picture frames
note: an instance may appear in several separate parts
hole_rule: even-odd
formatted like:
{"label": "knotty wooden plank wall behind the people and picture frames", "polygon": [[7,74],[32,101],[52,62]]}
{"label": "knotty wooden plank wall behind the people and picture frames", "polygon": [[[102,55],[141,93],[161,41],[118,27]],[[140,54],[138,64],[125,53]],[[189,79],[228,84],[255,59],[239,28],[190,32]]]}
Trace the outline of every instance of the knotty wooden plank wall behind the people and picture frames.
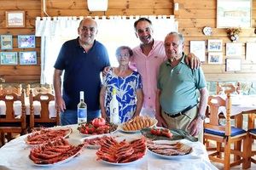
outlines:
{"label": "knotty wooden plank wall behind the people and picture frames", "polygon": [[[246,60],[245,43],[256,42],[256,0],[253,0],[252,28],[242,29],[239,42],[242,43],[241,71],[227,72],[225,64],[207,64],[207,40],[222,39],[225,61],[225,44],[230,42],[226,29],[216,28],[217,0],[108,0],[106,12],[90,12],[86,0],[45,0],[46,12],[49,16],[102,16],[102,15],[170,15],[173,14],[173,2],[179,3],[179,10],[175,13],[179,31],[185,37],[185,52],[189,53],[189,41],[203,40],[206,42],[206,62],[202,64],[208,81],[253,81],[256,79],[256,63]],[[34,34],[35,19],[37,16],[46,16],[43,10],[43,0],[1,0],[0,3],[0,34],[12,34],[14,49],[5,51],[27,51],[30,49],[17,48],[17,35]],[[6,28],[5,11],[26,11],[25,28]],[[204,26],[212,27],[212,36],[202,33]],[[164,39],[164,37],[163,37]],[[36,40],[38,52],[38,65],[0,65],[0,77],[7,82],[39,82],[40,79],[40,37]]]}

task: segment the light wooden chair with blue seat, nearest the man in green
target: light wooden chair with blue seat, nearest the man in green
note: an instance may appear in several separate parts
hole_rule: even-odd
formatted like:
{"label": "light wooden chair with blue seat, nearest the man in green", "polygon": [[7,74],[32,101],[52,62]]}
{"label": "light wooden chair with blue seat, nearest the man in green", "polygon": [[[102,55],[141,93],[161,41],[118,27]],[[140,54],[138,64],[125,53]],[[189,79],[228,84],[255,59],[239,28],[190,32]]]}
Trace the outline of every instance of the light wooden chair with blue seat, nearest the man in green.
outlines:
{"label": "light wooden chair with blue seat, nearest the man in green", "polygon": [[[215,150],[209,154],[211,161],[217,161],[224,164],[224,169],[230,169],[230,167],[241,164],[243,158],[230,162],[230,154],[234,156],[243,157],[241,150],[232,149],[231,144],[237,141],[245,141],[247,133],[245,130],[237,127],[231,127],[230,124],[230,110],[231,100],[230,94],[227,94],[227,99],[222,99],[219,96],[209,96],[209,122],[204,123],[204,139],[216,141],[217,145]],[[219,125],[218,123],[218,108],[224,106],[226,108],[225,125]],[[224,145],[223,145],[224,144]],[[243,150],[245,150],[245,144],[243,144]],[[208,148],[207,148],[208,150]],[[224,155],[224,157],[222,157]]]}

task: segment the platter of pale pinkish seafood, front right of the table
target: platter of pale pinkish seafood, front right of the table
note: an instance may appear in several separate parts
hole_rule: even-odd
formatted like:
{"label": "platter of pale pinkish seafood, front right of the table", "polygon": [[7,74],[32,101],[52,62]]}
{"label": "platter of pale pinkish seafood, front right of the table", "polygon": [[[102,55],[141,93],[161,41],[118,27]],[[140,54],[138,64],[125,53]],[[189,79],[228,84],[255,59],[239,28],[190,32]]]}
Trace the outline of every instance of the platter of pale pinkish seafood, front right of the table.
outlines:
{"label": "platter of pale pinkish seafood, front right of the table", "polygon": [[174,140],[155,140],[148,142],[147,148],[154,156],[167,159],[179,159],[190,156],[193,151],[188,144]]}

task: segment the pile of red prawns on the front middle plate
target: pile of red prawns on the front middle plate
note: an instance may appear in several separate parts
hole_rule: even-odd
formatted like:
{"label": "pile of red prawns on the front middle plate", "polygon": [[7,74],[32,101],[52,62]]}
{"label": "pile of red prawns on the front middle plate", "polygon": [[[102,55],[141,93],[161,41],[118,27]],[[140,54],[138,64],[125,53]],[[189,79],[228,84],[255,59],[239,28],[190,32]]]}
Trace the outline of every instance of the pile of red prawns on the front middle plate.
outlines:
{"label": "pile of red prawns on the front middle plate", "polygon": [[113,163],[126,163],[136,161],[145,155],[146,140],[136,139],[131,142],[125,140],[118,142],[116,139],[104,139],[101,148],[97,150],[97,160],[104,160]]}

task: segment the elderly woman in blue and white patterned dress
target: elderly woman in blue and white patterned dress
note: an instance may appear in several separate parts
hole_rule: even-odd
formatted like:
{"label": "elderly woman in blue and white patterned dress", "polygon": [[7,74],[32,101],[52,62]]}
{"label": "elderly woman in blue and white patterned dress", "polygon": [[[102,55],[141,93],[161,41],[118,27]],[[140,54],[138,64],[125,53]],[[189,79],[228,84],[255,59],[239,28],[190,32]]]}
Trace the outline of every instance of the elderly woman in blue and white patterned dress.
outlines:
{"label": "elderly woman in blue and white patterned dress", "polygon": [[102,117],[109,120],[109,103],[113,88],[119,101],[119,122],[127,122],[139,116],[143,106],[143,85],[140,74],[129,67],[131,48],[121,46],[116,50],[119,67],[113,67],[106,75],[100,94]]}

